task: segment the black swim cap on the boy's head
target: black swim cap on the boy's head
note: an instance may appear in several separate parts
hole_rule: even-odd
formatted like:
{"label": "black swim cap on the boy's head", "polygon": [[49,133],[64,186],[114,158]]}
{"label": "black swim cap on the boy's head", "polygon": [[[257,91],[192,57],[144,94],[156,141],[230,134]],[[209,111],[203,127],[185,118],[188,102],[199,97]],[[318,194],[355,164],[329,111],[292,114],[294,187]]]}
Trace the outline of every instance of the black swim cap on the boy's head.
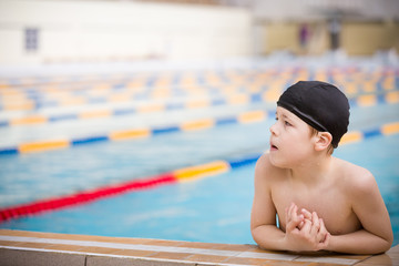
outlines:
{"label": "black swim cap on the boy's head", "polygon": [[317,131],[329,132],[334,147],[348,131],[348,99],[329,83],[299,81],[280,95],[277,105],[296,114]]}

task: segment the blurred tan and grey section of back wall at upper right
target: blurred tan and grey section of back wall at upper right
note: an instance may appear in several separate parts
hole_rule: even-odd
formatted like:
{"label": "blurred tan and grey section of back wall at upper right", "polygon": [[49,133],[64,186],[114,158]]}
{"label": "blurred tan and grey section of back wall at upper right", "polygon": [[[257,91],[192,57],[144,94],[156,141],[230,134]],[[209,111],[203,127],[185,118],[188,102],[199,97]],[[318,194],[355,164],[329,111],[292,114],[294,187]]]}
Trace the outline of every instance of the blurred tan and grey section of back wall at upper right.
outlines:
{"label": "blurred tan and grey section of back wall at upper right", "polygon": [[348,55],[399,51],[397,0],[259,0],[252,9],[255,25],[264,29],[258,54],[277,50],[321,54],[340,49]]}

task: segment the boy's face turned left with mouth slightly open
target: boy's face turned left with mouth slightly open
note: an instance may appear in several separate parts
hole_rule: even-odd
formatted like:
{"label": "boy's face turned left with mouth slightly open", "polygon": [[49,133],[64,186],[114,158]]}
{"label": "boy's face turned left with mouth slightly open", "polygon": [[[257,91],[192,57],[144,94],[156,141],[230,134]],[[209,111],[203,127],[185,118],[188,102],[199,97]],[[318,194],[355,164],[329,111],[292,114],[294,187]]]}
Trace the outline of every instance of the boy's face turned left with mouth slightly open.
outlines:
{"label": "boy's face turned left with mouth slightly open", "polygon": [[307,123],[288,110],[277,106],[276,123],[270,126],[270,162],[291,168],[313,154],[314,139]]}

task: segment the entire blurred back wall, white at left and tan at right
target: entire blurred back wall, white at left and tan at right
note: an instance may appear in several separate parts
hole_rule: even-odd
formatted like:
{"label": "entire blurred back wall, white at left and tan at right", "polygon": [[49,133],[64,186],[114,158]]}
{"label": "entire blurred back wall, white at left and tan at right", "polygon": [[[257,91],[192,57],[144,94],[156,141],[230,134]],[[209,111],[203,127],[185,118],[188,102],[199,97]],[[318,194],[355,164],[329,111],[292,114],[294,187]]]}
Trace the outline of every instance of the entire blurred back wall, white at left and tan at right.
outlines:
{"label": "entire blurred back wall, white at left and tan at right", "polygon": [[399,51],[398,0],[0,0],[0,64]]}

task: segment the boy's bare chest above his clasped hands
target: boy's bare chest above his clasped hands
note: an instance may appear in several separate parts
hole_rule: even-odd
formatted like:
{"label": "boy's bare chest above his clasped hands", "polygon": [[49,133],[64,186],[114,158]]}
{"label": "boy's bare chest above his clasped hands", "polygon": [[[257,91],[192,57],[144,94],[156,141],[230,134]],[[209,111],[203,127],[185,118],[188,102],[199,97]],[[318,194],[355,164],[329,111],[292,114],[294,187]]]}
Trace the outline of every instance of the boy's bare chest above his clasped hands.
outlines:
{"label": "boy's bare chest above his clasped hands", "polygon": [[309,212],[316,212],[332,235],[346,234],[360,228],[360,222],[352,212],[350,202],[338,190],[278,186],[274,187],[272,196],[283,231],[286,227],[285,209],[291,203],[298,206],[298,211],[306,208]]}

